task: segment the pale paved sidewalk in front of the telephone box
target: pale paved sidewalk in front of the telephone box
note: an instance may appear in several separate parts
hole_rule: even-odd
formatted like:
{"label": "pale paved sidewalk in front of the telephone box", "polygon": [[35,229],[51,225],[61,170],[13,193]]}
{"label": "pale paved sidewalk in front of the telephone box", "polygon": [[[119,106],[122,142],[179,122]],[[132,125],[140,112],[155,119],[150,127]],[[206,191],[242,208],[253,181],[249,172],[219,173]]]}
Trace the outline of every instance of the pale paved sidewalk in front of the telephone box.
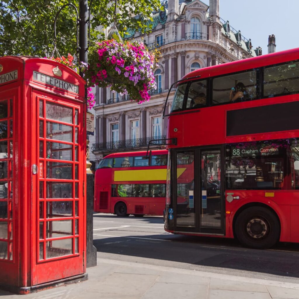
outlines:
{"label": "pale paved sidewalk in front of the telephone box", "polygon": [[[97,259],[89,280],[1,299],[299,299],[297,283]],[[22,296],[22,297],[20,297]]]}

